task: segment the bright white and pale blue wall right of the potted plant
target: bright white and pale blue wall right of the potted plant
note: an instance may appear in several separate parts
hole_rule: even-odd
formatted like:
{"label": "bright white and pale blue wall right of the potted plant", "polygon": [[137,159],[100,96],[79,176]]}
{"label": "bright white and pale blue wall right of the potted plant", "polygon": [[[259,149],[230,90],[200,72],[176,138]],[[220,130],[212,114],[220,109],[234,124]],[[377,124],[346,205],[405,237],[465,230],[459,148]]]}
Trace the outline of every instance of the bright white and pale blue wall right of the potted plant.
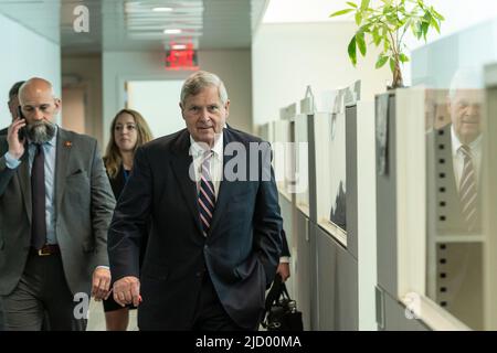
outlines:
{"label": "bright white and pale blue wall right of the potted plant", "polygon": [[442,33],[432,33],[427,43],[409,38],[410,71],[413,85],[447,88],[458,68],[473,66],[483,72],[483,65],[497,61],[497,2],[452,0],[435,6],[445,17]]}

